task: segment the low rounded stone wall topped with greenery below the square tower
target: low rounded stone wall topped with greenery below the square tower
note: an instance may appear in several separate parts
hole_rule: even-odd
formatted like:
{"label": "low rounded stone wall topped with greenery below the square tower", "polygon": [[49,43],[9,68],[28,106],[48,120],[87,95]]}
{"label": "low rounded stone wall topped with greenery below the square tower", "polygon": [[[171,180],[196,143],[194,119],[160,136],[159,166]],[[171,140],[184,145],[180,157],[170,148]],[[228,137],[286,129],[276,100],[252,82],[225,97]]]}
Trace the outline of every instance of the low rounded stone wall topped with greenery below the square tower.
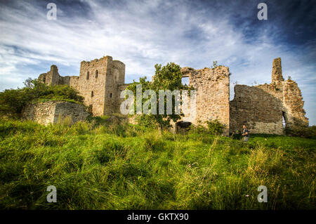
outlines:
{"label": "low rounded stone wall topped with greenery below the square tower", "polygon": [[22,110],[23,119],[37,121],[44,125],[57,123],[66,117],[69,117],[71,123],[74,124],[77,121],[84,121],[88,116],[84,105],[57,100],[32,103]]}

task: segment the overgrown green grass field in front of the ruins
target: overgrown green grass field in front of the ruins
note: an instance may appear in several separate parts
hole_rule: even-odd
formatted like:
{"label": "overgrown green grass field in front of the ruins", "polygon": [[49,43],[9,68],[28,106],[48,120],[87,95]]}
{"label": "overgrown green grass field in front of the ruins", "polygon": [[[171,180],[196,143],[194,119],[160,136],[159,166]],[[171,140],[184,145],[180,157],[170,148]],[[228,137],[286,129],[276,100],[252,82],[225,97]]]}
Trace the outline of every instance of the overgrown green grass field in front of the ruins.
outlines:
{"label": "overgrown green grass field in front of the ruins", "polygon": [[0,209],[316,209],[315,139],[66,123],[0,121]]}

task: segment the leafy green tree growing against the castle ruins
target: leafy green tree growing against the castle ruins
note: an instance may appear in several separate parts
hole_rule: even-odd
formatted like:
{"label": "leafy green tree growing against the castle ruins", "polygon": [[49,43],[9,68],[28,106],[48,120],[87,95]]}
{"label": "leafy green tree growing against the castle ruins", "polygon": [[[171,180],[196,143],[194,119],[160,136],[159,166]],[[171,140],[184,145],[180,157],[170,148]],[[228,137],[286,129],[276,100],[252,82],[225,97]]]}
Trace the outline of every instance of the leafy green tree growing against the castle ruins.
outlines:
{"label": "leafy green tree growing against the castle ruins", "polygon": [[[159,114],[159,90],[188,90],[190,95],[190,90],[193,88],[187,85],[183,85],[182,73],[180,72],[180,66],[171,62],[167,65],[154,65],[156,71],[154,73],[154,77],[152,82],[147,81],[146,77],[140,78],[139,82],[133,81],[133,84],[130,84],[127,89],[133,91],[134,95],[136,95],[136,86],[138,84],[142,84],[142,94],[145,91],[152,90],[157,95],[156,105],[157,105],[157,114],[138,114],[137,121],[140,124],[144,124],[145,126],[150,126],[151,124],[159,124],[160,129],[163,129],[163,126],[170,126],[170,121],[178,121],[180,116],[184,114],[175,114],[175,97],[172,96],[172,114],[167,114],[166,112],[166,97],[164,98],[164,113]],[[151,98],[151,96],[150,96]],[[143,98],[141,103],[142,108],[144,103],[150,98]],[[150,107],[150,106],[149,106]],[[136,113],[136,97],[134,98],[134,113]],[[150,110],[154,110],[154,108],[150,107]]]}

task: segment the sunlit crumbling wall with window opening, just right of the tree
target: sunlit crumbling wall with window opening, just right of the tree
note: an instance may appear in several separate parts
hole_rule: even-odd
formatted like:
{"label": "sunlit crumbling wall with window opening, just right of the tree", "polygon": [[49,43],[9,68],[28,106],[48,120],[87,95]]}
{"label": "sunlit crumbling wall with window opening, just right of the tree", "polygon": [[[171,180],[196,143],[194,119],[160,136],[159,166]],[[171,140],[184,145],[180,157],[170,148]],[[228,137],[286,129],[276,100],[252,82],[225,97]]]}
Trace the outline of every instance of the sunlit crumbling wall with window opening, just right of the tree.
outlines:
{"label": "sunlit crumbling wall with window opening, just right of the tree", "polygon": [[[196,117],[194,120],[183,117],[183,121],[202,124],[218,119],[225,124],[224,134],[228,135],[230,126],[230,71],[228,67],[204,68],[194,70],[189,67],[181,69],[183,77],[189,77],[189,85],[196,91]],[[200,122],[200,123],[199,123]]]}

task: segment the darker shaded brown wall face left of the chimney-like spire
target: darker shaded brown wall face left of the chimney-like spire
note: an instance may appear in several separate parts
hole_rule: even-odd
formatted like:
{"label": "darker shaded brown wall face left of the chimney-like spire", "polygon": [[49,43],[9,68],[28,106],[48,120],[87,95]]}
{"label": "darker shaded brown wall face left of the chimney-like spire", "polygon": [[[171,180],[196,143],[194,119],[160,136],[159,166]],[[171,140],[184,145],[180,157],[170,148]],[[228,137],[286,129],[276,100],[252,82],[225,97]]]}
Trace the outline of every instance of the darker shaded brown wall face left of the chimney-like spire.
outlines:
{"label": "darker shaded brown wall face left of the chimney-like spire", "polygon": [[230,102],[230,132],[246,125],[251,133],[283,133],[282,101],[258,86],[235,86]]}

